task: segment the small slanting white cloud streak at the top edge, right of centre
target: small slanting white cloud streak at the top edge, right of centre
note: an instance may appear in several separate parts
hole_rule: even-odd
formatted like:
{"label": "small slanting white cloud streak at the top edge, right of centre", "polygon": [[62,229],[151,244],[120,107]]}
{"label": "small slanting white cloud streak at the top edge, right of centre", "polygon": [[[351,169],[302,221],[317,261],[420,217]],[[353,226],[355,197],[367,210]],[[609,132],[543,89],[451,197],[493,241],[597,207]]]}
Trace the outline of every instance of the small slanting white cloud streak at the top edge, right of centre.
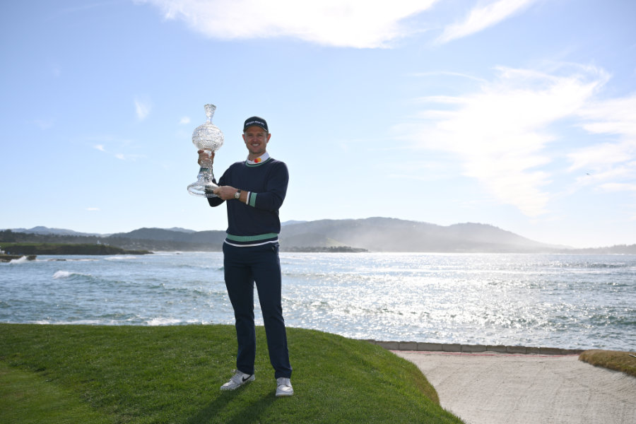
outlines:
{"label": "small slanting white cloud streak at the top edge, right of centre", "polygon": [[514,16],[534,2],[536,0],[498,0],[485,6],[476,6],[466,16],[466,19],[444,28],[444,32],[437,39],[437,42],[449,42],[478,33],[481,30],[485,30],[485,28],[500,23],[506,18]]}

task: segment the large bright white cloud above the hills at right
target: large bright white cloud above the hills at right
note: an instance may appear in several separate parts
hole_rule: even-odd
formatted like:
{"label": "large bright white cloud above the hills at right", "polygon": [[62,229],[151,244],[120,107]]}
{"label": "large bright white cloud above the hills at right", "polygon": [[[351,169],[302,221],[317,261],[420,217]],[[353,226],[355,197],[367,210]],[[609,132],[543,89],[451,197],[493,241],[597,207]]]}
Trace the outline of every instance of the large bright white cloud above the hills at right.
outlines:
{"label": "large bright white cloud above the hills at right", "polygon": [[545,149],[558,139],[551,126],[576,117],[609,76],[584,66],[561,76],[497,71],[498,78],[475,93],[420,99],[432,108],[397,130],[419,148],[453,153],[464,175],[477,179],[495,199],[537,217],[548,211],[550,200],[546,186],[553,175],[546,165],[553,158]]}

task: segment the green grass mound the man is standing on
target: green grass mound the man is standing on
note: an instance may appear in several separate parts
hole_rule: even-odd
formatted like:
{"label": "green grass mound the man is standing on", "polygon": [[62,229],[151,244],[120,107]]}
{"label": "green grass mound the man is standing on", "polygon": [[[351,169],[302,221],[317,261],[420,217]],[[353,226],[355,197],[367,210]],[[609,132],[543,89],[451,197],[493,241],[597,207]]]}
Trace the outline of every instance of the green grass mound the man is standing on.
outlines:
{"label": "green grass mound the man is standing on", "polygon": [[418,368],[365,341],[288,329],[295,394],[276,399],[264,329],[254,382],[233,326],[0,324],[0,423],[461,423]]}

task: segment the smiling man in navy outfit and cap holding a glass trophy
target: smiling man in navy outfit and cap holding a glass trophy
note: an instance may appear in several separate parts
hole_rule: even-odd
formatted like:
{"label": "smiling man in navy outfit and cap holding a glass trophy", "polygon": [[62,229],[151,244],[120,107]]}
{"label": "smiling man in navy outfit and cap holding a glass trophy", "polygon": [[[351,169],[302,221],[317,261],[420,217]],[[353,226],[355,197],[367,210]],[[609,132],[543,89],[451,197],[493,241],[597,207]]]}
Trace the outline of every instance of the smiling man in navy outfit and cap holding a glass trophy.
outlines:
{"label": "smiling man in navy outfit and cap holding a glass trophy", "polygon": [[[234,390],[254,381],[256,333],[254,330],[254,283],[263,312],[269,360],[276,378],[276,396],[291,396],[292,368],[281,305],[281,262],[278,259],[278,208],[287,192],[289,174],[285,163],[267,153],[271,134],[265,119],[251,117],[243,125],[247,160],[232,164],[208,198],[210,206],[225,201],[228,235],[223,243],[225,286],[236,322],[238,351],[235,375],[220,387]],[[213,159],[214,155],[211,156]],[[207,158],[199,151],[199,162]]]}

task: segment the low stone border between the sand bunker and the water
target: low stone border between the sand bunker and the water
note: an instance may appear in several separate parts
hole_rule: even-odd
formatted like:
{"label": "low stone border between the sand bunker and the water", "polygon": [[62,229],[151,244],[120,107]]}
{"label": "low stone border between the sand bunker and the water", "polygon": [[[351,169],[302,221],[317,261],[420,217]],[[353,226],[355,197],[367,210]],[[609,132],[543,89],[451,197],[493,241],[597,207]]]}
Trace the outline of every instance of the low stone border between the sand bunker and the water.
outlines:
{"label": "low stone border between the sand bunker and the water", "polygon": [[584,349],[531,348],[526,346],[463,345],[459,343],[424,343],[420,341],[367,340],[388,351],[423,351],[454,353],[520,353],[524,355],[579,355]]}

